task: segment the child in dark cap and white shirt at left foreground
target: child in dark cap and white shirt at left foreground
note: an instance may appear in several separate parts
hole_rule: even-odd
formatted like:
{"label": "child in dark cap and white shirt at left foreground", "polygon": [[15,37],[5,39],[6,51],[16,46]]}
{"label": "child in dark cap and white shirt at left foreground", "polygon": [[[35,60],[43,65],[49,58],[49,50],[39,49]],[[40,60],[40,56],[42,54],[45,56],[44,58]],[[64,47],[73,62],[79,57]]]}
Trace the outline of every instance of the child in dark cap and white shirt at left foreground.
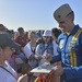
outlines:
{"label": "child in dark cap and white shirt at left foreground", "polygon": [[27,75],[19,79],[8,62],[17,46],[8,34],[0,34],[0,82],[27,82]]}

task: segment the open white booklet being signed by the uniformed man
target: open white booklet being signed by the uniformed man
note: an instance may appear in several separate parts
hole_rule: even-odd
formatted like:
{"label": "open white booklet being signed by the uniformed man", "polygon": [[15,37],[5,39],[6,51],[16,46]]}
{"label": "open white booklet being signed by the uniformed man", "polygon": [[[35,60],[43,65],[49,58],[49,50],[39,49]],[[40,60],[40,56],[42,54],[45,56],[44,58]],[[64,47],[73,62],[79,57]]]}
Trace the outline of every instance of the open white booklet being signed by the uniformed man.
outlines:
{"label": "open white booklet being signed by the uniformed man", "polygon": [[49,62],[45,62],[33,70],[31,72],[36,72],[36,73],[49,73],[51,69],[55,67],[55,65],[50,65]]}

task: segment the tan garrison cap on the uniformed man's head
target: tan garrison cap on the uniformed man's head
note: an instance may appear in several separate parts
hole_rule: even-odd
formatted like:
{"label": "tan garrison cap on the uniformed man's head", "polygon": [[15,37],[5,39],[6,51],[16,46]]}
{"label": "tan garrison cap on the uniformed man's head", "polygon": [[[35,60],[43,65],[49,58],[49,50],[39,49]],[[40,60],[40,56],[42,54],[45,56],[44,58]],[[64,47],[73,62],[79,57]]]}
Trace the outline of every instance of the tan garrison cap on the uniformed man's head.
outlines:
{"label": "tan garrison cap on the uniformed man's head", "polygon": [[72,12],[71,7],[68,3],[66,3],[66,4],[62,4],[61,7],[59,7],[54,12],[54,17],[58,21],[58,20],[66,17],[71,12]]}

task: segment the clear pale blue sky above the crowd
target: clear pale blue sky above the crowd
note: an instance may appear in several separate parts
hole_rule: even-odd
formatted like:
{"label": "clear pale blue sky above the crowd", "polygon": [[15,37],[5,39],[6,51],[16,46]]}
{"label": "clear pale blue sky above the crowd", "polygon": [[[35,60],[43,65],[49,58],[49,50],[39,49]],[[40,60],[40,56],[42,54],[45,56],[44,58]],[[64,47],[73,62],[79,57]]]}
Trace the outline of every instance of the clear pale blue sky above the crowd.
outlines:
{"label": "clear pale blue sky above the crowd", "polygon": [[75,14],[75,24],[82,27],[82,0],[0,0],[0,23],[9,30],[22,26],[28,30],[51,30],[58,27],[54,11],[69,3]]}

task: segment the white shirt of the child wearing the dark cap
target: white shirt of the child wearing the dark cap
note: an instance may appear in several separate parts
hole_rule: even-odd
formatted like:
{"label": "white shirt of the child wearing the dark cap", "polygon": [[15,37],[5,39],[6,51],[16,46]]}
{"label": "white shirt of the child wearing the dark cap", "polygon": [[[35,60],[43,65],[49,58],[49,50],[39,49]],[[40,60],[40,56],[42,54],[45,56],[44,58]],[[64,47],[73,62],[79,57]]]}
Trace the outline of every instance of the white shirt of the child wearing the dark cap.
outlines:
{"label": "white shirt of the child wearing the dark cap", "polygon": [[[5,65],[8,67],[4,67],[7,70],[9,70],[16,79],[17,73],[14,71],[14,69],[9,65],[8,61],[5,61]],[[0,65],[1,66],[1,65]],[[7,70],[0,67],[0,82],[17,82],[16,79],[11,75]]]}

